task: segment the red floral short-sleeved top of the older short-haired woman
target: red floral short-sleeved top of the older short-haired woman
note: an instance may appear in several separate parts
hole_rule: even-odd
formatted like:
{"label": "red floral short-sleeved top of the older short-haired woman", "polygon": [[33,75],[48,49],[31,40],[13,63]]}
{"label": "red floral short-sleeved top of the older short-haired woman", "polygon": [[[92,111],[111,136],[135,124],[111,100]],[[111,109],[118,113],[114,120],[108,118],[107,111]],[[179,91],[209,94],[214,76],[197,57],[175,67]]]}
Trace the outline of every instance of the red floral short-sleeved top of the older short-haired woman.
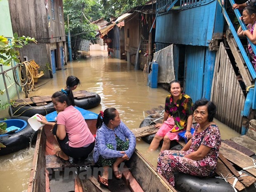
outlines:
{"label": "red floral short-sleeved top of the older short-haired woman", "polygon": [[219,149],[221,144],[220,130],[215,124],[208,126],[204,131],[200,133],[197,133],[198,128],[199,124],[197,124],[195,128],[194,135],[191,139],[192,144],[190,149],[186,151],[186,154],[197,151],[200,145],[211,147],[208,154],[206,154],[206,156],[199,161],[201,161],[201,166],[210,166],[215,168],[218,162]]}

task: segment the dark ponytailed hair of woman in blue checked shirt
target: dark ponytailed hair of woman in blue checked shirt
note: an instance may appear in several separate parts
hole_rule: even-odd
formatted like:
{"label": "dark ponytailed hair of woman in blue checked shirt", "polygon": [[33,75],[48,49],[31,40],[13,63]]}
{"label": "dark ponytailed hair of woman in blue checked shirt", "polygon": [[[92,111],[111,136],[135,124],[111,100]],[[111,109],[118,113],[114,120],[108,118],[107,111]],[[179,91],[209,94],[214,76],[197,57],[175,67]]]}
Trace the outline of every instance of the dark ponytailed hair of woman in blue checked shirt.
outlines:
{"label": "dark ponytailed hair of woman in blue checked shirt", "polygon": [[115,108],[107,108],[105,111],[100,111],[98,118],[97,118],[97,123],[96,123],[96,128],[100,128],[102,124],[104,123],[105,125],[109,124],[110,120],[114,120],[116,117],[116,109]]}

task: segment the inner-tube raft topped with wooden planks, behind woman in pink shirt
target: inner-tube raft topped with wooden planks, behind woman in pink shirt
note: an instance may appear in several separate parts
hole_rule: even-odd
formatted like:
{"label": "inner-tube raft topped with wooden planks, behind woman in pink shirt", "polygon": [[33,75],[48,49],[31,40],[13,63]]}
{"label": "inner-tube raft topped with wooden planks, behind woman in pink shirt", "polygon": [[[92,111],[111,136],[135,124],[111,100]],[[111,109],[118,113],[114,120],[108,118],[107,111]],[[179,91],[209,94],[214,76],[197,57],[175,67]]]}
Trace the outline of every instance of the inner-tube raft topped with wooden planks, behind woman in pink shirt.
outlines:
{"label": "inner-tube raft topped with wooden planks, behind woman in pink shirt", "polygon": [[[81,90],[74,91],[73,95],[75,105],[82,109],[92,109],[97,107],[101,102],[100,95],[94,92]],[[15,100],[11,107],[14,116],[31,117],[34,114],[41,114],[45,116],[55,111],[52,103],[52,95],[34,96],[26,99]],[[10,108],[9,115],[11,116]]]}

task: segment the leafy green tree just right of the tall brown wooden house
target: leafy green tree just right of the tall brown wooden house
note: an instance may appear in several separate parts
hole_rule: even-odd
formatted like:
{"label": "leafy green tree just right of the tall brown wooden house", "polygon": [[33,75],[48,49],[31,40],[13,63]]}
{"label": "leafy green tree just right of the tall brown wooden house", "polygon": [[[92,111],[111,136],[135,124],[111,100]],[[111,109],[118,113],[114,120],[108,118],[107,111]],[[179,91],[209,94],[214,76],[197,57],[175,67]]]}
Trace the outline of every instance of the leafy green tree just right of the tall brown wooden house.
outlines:
{"label": "leafy green tree just right of the tall brown wooden house", "polygon": [[[92,7],[96,5],[95,0],[64,0],[65,30],[70,30],[72,48],[78,45],[82,39],[95,39],[97,26],[90,23]],[[69,20],[68,20],[69,16]]]}

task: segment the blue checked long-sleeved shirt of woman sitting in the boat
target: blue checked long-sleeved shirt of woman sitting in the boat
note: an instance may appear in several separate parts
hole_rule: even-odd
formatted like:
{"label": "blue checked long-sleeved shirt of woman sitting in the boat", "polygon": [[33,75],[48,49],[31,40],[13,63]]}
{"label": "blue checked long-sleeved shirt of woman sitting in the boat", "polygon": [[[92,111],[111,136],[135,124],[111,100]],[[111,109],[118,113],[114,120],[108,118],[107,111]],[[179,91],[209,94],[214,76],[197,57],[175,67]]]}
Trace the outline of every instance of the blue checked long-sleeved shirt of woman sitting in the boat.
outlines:
{"label": "blue checked long-sleeved shirt of woman sitting in the boat", "polygon": [[[136,146],[136,138],[133,135],[133,132],[131,132],[122,121],[119,126],[114,128],[114,130],[109,129],[103,123],[96,133],[95,147],[93,152],[93,159],[95,163],[99,160],[99,156],[102,156],[104,159],[111,159],[122,157],[124,155],[120,153],[120,151],[116,151],[115,135],[124,142],[126,142],[126,138],[129,140],[129,148],[124,152],[130,159]],[[107,144],[112,144],[114,150],[107,148]]]}

